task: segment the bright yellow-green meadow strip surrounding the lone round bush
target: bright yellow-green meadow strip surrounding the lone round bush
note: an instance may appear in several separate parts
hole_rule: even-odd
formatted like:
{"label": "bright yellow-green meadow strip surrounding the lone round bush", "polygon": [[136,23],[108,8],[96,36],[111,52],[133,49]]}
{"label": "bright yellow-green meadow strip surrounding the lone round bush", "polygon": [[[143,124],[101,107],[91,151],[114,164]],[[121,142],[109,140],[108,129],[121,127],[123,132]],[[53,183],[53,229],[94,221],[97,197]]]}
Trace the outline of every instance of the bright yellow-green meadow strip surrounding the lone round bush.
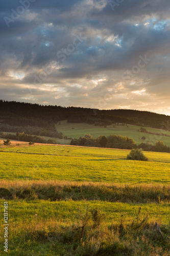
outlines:
{"label": "bright yellow-green meadow strip surrounding the lone round bush", "polygon": [[0,150],[1,179],[170,182],[168,153],[145,152],[150,161],[140,162],[127,160],[126,150],[45,145]]}

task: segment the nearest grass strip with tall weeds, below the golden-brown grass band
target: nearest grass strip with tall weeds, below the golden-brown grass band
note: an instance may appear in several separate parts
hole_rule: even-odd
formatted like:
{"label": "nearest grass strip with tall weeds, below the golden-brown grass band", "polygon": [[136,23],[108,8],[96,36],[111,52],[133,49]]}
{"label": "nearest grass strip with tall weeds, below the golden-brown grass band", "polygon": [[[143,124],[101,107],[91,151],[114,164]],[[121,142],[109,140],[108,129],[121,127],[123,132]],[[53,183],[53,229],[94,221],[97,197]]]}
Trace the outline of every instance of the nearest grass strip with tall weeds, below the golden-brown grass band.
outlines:
{"label": "nearest grass strip with tall weeds, below the golden-brown grass band", "polygon": [[[143,204],[141,210],[139,206],[99,201],[10,201],[8,254],[169,255],[169,205]],[[154,231],[155,221],[160,223],[164,241]]]}

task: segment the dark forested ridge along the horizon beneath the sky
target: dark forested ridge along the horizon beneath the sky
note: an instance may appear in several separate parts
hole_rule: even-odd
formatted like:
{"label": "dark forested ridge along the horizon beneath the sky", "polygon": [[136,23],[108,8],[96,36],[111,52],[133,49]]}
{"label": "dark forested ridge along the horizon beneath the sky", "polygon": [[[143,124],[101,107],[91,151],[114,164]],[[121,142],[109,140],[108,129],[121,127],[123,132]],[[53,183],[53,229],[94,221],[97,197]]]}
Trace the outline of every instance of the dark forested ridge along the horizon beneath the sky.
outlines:
{"label": "dark forested ridge along the horizon beneath the sky", "polygon": [[93,110],[0,100],[0,122],[13,126],[54,127],[61,120],[96,125],[128,123],[170,130],[170,116],[137,110]]}

